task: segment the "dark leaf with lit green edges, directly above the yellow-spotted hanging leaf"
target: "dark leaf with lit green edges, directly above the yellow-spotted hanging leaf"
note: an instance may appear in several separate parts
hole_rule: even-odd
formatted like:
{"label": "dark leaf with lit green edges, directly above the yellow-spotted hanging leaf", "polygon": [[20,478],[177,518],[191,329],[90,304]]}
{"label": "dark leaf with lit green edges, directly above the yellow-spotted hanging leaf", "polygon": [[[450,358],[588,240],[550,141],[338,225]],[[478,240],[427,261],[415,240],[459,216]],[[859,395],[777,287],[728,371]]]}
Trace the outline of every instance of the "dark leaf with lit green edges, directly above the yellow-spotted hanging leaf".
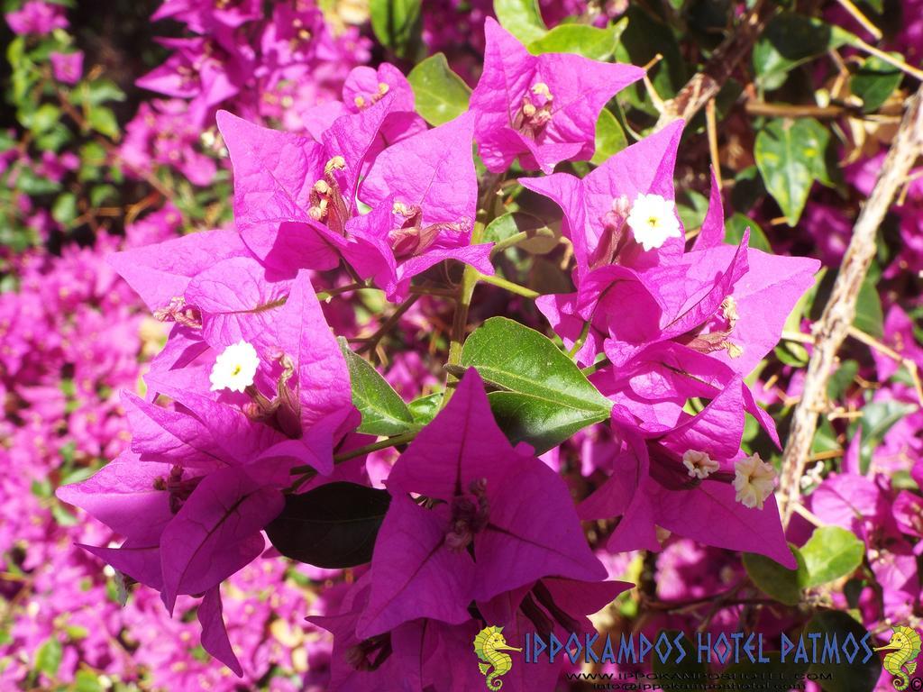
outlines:
{"label": "dark leaf with lit green edges, directly above the yellow-spotted hanging leaf", "polygon": [[853,34],[821,19],[791,12],[776,15],[753,46],[757,86],[778,89],[790,70],[853,39]]}

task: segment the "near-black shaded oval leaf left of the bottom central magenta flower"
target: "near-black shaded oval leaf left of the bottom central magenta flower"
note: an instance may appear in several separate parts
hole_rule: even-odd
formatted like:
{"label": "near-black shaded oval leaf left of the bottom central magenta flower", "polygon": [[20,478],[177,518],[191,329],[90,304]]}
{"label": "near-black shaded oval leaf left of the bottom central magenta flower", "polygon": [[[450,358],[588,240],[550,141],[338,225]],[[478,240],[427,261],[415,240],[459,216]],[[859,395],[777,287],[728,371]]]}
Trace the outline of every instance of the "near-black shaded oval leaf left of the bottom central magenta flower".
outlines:
{"label": "near-black shaded oval leaf left of the bottom central magenta flower", "polygon": [[364,565],[372,559],[390,501],[387,490],[326,483],[303,495],[285,495],[285,508],[266,535],[282,555],[308,565]]}

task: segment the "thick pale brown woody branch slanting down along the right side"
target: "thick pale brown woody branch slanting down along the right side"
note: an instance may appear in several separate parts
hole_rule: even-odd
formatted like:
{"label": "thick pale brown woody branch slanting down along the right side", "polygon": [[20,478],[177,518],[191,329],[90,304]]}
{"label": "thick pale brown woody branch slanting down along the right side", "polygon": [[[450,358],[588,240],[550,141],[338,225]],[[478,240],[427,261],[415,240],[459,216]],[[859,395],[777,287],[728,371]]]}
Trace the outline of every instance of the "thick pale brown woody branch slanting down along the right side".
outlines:
{"label": "thick pale brown woody branch slanting down along the right side", "polygon": [[859,289],[875,257],[875,237],[907,173],[923,153],[923,87],[908,101],[904,120],[891,150],[881,166],[869,200],[862,208],[846,249],[843,265],[833,283],[833,292],[814,326],[811,351],[801,401],[792,420],[791,433],[782,459],[779,501],[783,525],[787,526],[800,494],[800,479],[808,463],[818,411],[825,408],[827,381],[833,372],[836,352],[856,316]]}

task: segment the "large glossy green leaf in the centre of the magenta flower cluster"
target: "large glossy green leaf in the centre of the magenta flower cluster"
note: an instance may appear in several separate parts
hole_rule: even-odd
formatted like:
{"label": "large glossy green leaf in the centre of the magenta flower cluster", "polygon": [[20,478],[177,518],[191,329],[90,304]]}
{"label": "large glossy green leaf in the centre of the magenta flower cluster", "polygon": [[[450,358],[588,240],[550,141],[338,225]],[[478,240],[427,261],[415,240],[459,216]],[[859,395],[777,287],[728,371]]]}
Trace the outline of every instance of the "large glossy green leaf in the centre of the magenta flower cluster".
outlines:
{"label": "large glossy green leaf in the centre of the magenta flower cluster", "polygon": [[528,442],[539,454],[605,421],[612,408],[551,340],[506,317],[491,317],[468,337],[462,366],[506,390],[490,395],[497,423],[512,442]]}

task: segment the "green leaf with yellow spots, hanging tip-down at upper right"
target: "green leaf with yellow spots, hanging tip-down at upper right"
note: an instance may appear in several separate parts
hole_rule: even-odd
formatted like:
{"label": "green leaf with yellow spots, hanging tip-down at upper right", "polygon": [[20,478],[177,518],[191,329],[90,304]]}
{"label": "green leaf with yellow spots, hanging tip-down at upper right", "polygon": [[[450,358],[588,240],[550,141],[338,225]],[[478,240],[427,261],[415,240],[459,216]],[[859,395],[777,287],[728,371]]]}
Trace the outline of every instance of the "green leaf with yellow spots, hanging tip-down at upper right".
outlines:
{"label": "green leaf with yellow spots, hanging tip-down at upper right", "polygon": [[775,118],[756,137],[756,165],[790,226],[801,218],[814,181],[827,177],[824,152],[829,142],[829,130],[811,118]]}

